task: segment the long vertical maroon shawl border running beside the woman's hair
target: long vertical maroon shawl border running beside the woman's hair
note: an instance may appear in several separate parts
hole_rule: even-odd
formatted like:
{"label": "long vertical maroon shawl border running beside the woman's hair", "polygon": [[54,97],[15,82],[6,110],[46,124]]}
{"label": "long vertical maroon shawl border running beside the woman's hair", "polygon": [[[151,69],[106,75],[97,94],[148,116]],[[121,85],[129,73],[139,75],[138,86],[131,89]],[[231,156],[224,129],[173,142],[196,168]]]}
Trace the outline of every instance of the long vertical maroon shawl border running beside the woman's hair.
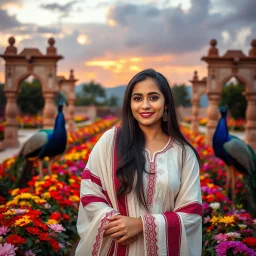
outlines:
{"label": "long vertical maroon shawl border running beside the woman's hair", "polygon": [[[117,164],[118,164],[118,159],[117,159],[117,153],[116,153],[116,136],[117,136],[117,128],[115,127],[115,135],[114,135],[114,148],[113,148],[113,184],[114,184],[114,189],[117,195],[118,188],[120,186],[120,181],[116,177],[116,170],[117,170]],[[127,216],[128,214],[128,209],[127,209],[127,198],[126,196],[122,196],[119,200],[116,198],[117,202],[117,207],[118,211],[120,212],[121,215]],[[128,255],[129,251],[129,246],[126,245],[121,245],[117,244],[116,248],[116,255],[117,256],[126,256]]]}

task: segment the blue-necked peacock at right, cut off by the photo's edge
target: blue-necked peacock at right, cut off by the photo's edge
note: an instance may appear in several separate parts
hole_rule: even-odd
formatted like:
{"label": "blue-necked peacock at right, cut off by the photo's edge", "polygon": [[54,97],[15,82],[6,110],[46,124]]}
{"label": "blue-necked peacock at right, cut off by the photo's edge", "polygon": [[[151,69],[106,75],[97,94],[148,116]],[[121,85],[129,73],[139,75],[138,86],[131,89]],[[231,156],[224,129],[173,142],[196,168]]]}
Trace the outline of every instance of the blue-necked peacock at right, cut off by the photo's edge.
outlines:
{"label": "blue-necked peacock at right, cut off by the photo's edge", "polygon": [[213,150],[222,159],[227,169],[227,194],[231,182],[231,199],[235,199],[235,172],[243,174],[248,192],[248,202],[252,212],[256,213],[256,154],[244,141],[229,134],[227,126],[227,106],[219,109],[221,118],[213,135]]}

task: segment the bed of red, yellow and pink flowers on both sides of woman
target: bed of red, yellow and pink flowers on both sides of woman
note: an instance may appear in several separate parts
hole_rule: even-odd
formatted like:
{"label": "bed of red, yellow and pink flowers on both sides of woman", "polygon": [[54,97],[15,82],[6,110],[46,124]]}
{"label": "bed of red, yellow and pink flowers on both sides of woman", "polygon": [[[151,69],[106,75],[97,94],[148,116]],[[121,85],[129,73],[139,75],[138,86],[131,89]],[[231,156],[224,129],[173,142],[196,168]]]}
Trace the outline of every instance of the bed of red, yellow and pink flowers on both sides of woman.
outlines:
{"label": "bed of red, yellow and pink flowers on both sides of woman", "polygon": [[[45,176],[43,181],[33,177],[28,188],[12,189],[8,197],[0,198],[0,255],[1,250],[13,251],[16,255],[68,255],[78,238],[80,174],[100,132],[116,121],[109,118],[69,134],[68,149],[52,166],[51,177]],[[202,255],[256,255],[256,219],[243,208],[245,190],[241,177],[237,175],[237,201],[233,211],[224,193],[223,162],[205,146],[204,136],[195,135],[187,128],[183,128],[183,133],[202,158]],[[4,163],[2,175],[13,162],[12,158]],[[44,250],[40,251],[41,248]]]}

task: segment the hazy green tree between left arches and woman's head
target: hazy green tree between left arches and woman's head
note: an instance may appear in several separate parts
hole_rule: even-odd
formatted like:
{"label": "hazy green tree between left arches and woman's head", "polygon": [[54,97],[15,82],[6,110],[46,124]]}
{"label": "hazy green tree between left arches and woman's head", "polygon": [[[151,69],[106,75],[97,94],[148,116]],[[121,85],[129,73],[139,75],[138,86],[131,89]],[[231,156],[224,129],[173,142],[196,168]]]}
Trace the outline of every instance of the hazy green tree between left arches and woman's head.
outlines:
{"label": "hazy green tree between left arches and woman's head", "polygon": [[78,95],[76,105],[104,105],[106,91],[101,84],[91,81],[87,84],[83,84],[82,87],[83,95]]}

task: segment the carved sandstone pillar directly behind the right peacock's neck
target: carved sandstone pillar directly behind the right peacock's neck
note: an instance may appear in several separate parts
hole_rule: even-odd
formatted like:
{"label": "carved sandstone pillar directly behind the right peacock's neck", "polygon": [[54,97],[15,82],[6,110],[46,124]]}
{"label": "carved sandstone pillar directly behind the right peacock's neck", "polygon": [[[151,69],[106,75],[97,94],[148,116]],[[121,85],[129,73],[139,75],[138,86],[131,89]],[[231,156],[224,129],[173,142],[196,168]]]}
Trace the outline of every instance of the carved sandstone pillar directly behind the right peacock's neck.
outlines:
{"label": "carved sandstone pillar directly behind the right peacock's neck", "polygon": [[219,121],[218,104],[220,101],[220,93],[207,93],[209,106],[207,109],[207,130],[206,130],[206,143],[212,146],[212,137]]}

